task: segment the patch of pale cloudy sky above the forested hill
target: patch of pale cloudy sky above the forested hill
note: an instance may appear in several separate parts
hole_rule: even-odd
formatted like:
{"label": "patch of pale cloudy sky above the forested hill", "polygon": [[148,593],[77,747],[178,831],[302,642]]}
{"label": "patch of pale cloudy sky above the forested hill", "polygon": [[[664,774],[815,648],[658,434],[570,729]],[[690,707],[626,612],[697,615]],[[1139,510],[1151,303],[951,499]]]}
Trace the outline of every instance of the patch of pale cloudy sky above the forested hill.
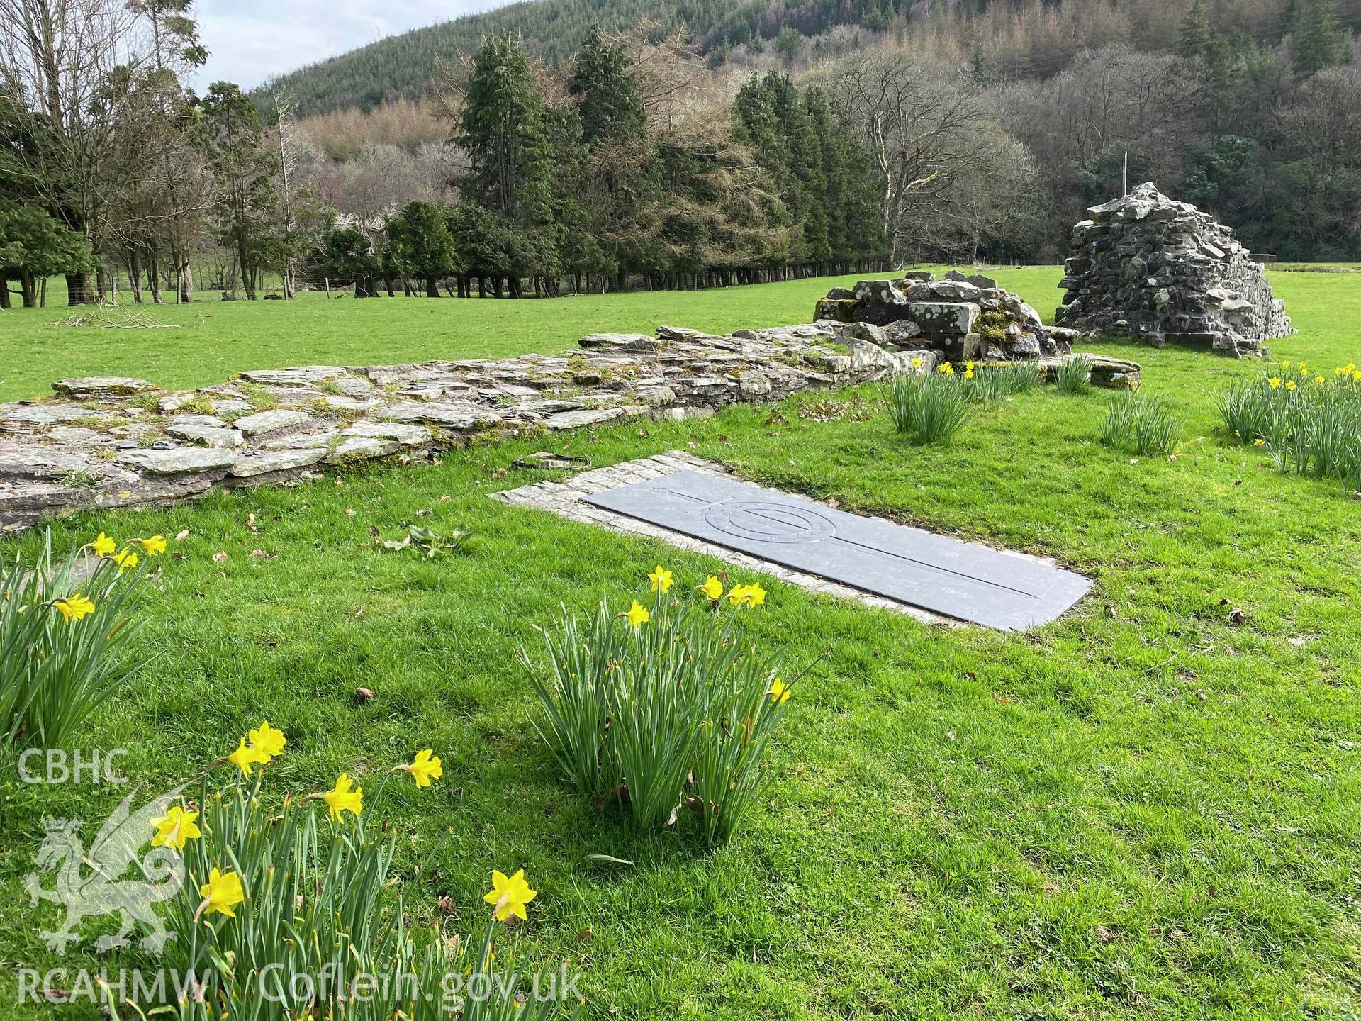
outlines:
{"label": "patch of pale cloudy sky above the forested hill", "polygon": [[253,88],[274,75],[423,25],[508,0],[199,0],[199,37],[211,52],[193,84]]}

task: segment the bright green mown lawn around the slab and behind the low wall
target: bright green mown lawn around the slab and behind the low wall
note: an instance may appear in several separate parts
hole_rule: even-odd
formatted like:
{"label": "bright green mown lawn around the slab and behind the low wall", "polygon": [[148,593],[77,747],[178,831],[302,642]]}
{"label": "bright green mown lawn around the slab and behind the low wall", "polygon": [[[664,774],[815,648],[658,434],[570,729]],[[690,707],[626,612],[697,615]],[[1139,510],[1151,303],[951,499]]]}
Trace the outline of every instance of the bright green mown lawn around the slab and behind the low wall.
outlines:
{"label": "bright green mown lawn around the slab and behind the low wall", "polygon": [[[1000,276],[1052,310],[1056,271]],[[223,319],[203,331],[108,331],[127,347],[69,361],[35,344],[41,357],[16,368],[44,385],[94,370],[189,384],[265,363],[542,350],[596,328],[793,321],[829,283],[429,310],[212,306]],[[1273,283],[1301,331],[1278,357],[1324,372],[1361,361],[1361,279]],[[391,329],[384,308],[442,325]],[[456,338],[440,335],[455,325]],[[26,329],[0,340],[5,372],[35,339],[93,335]],[[170,334],[181,350],[214,336],[215,353],[180,368],[150,359]],[[774,783],[719,851],[636,836],[578,803],[535,732],[513,653],[524,643],[542,663],[534,628],[559,602],[626,604],[659,561],[686,585],[721,565],[487,500],[538,476],[505,472],[536,444],[60,523],[61,543],[191,532],[173,546],[186,558],[165,561],[146,662],[87,743],[131,749],[125,772],[157,787],[267,716],[290,741],[271,768],[279,794],[328,788],[342,769],[376,784],[433,746],[441,783],[388,787],[408,909],[433,918],[448,894],[455,930],[468,931],[489,871],[524,867],[540,893],[514,954],[578,964],[592,1018],[1354,1017],[1361,501],[1279,476],[1215,432],[1215,391],[1258,366],[1098,350],[1142,361],[1145,387],[1185,417],[1176,459],[1102,448],[1106,398],[1055,392],[987,411],[940,448],[904,445],[879,410],[863,419],[855,402],[871,391],[836,395],[848,414],[827,422],[811,396],[562,441],[596,464],[689,447],[753,479],[1056,557],[1097,581],[1062,621],[998,634],[764,580],[768,603],[749,615],[759,644],[788,664],[830,655],[796,689],[768,760]],[[34,385],[5,383],[20,391]],[[410,521],[476,532],[433,564],[374,547],[370,525]],[[376,697],[358,702],[355,686]],[[7,1006],[15,968],[72,964],[42,947],[54,912],[30,909],[22,889],[41,818],[98,821],[122,794],[0,787]],[[434,873],[416,875],[433,849]]]}

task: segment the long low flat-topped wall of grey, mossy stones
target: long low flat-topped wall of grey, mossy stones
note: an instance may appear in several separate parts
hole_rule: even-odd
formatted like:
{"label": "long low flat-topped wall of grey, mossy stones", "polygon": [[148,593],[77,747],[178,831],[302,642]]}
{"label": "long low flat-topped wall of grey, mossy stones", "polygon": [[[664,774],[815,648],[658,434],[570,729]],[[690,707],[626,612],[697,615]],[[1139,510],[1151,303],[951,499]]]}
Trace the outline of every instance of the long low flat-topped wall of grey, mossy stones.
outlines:
{"label": "long low flat-topped wall of grey, mossy stones", "polygon": [[[708,417],[736,402],[935,366],[934,358],[913,366],[911,354],[832,321],[731,336],[660,327],[656,336],[592,334],[580,343],[573,354],[502,361],[263,369],[197,391],[60,380],[56,398],[0,404],[0,534],[91,508],[280,483],[318,466],[423,460],[633,415]],[[1094,369],[1093,381],[1098,376],[1134,385],[1138,366],[1120,362],[1104,376]]]}

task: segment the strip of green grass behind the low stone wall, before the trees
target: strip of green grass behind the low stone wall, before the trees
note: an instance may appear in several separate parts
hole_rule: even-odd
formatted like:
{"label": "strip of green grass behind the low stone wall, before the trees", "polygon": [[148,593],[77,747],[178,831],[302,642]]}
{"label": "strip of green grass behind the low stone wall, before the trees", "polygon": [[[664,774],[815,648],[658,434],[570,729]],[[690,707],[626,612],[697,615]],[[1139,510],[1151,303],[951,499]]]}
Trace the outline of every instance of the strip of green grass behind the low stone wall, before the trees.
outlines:
{"label": "strip of green grass behind the low stone wall, before the trees", "polygon": [[[1049,270],[1014,274],[1030,293],[1052,289]],[[494,298],[200,301],[143,305],[155,321],[182,329],[108,329],[53,325],[79,309],[0,313],[0,400],[52,393],[68,376],[135,376],[162,387],[220,383],[248,369],[287,365],[376,365],[427,358],[505,358],[562,351],[584,334],[651,334],[661,324],[725,334],[742,327],[804,323],[814,301],[855,276],[791,280],[708,291],[633,291],[551,301]],[[1011,279],[1011,278],[1009,278]],[[1044,295],[1040,308],[1055,304]]]}

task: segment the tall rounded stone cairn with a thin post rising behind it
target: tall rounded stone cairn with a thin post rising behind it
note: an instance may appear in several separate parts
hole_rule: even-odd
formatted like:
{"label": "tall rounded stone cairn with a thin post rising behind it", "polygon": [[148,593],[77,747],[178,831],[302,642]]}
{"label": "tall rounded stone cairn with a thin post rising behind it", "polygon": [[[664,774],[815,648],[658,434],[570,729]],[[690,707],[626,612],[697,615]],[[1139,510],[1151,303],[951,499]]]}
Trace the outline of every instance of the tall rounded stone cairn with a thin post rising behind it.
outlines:
{"label": "tall rounded stone cairn with a thin post rising behind it", "polygon": [[1262,264],[1195,206],[1141,184],[1072,229],[1056,321],[1243,357],[1290,332]]}

